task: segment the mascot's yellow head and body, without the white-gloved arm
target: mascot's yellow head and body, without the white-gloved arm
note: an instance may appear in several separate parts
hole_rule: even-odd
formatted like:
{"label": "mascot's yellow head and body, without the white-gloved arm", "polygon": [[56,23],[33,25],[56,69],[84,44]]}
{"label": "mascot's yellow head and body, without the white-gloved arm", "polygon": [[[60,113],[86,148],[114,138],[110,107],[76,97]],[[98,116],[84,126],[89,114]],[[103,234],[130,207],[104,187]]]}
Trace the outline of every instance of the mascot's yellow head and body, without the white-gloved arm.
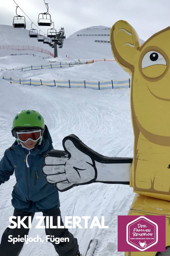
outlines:
{"label": "mascot's yellow head and body, without the white-gloved arm", "polygon": [[115,60],[131,74],[134,158],[130,186],[136,196],[129,215],[166,216],[166,252],[125,252],[125,256],[170,255],[170,27],[140,45],[135,29],[119,20],[111,28]]}

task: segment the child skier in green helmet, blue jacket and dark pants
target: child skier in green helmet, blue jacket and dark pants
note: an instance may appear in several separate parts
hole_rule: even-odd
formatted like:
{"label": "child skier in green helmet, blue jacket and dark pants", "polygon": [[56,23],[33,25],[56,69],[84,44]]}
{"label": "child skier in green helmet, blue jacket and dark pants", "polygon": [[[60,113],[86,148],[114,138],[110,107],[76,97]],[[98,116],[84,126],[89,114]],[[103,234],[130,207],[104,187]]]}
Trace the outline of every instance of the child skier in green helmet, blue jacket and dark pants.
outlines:
{"label": "child skier in green helmet, blue jacket and dark pants", "polygon": [[[53,225],[57,225],[57,216],[61,220],[60,201],[58,190],[48,184],[41,171],[44,155],[53,148],[51,136],[41,114],[34,110],[19,112],[12,126],[12,136],[16,141],[8,148],[0,161],[0,185],[9,180],[14,173],[16,184],[12,191],[13,216],[31,216],[33,220],[35,212],[43,212],[43,216],[53,216]],[[50,218],[49,218],[50,219]],[[46,220],[44,219],[45,225]],[[28,226],[28,217],[24,221]],[[6,228],[1,239],[0,255],[19,255],[24,242],[8,242],[9,236],[24,238],[29,229]],[[69,238],[69,242],[60,242],[54,245],[59,256],[80,256],[77,239],[66,228],[46,228],[46,235],[57,238]]]}

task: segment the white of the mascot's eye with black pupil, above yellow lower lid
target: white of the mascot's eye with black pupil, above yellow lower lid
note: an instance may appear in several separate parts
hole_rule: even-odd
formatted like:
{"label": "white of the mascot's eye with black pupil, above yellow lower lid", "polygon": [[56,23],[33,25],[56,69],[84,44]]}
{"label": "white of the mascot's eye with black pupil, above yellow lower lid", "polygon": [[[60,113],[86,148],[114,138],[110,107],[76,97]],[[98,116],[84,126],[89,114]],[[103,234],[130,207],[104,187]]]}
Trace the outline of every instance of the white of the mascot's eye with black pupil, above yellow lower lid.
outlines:
{"label": "white of the mascot's eye with black pupil, above yellow lower lid", "polygon": [[142,69],[152,65],[166,65],[165,58],[156,51],[149,51],[142,59]]}

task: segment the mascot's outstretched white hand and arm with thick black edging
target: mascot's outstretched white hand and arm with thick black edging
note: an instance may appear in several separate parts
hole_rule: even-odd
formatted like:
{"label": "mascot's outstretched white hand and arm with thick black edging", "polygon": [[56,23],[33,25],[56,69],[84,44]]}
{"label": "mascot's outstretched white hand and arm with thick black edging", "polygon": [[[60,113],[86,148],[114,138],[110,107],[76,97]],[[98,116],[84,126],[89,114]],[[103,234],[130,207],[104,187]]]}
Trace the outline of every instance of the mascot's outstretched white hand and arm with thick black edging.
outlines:
{"label": "mascot's outstretched white hand and arm with thick black edging", "polygon": [[59,191],[92,182],[129,184],[132,158],[102,156],[74,134],[63,139],[63,148],[48,152],[42,166],[46,181]]}

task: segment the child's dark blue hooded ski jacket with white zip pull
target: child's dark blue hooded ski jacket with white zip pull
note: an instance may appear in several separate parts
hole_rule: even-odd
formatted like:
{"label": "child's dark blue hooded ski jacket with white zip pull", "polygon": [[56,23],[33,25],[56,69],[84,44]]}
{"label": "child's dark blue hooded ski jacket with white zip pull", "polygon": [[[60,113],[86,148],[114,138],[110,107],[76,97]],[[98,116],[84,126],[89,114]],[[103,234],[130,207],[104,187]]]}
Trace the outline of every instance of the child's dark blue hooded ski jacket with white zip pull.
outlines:
{"label": "child's dark blue hooded ski jacket with white zip pull", "polygon": [[[24,149],[17,141],[5,150],[0,161],[0,185],[14,173],[12,206],[22,211],[41,212],[60,207],[58,190],[46,182],[41,166],[44,155],[53,148],[47,126],[41,145]],[[27,161],[26,161],[27,160]]]}

